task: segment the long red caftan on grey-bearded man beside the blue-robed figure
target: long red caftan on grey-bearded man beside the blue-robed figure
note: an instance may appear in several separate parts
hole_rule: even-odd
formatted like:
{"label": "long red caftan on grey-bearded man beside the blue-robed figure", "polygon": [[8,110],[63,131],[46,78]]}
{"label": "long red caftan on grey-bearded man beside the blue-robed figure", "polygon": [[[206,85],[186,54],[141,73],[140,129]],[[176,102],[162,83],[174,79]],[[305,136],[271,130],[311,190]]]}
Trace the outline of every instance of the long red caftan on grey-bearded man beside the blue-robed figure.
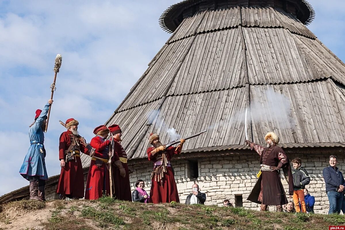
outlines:
{"label": "long red caftan on grey-bearded man beside the blue-robed figure", "polygon": [[[59,144],[59,160],[65,160],[65,151],[70,147],[73,136],[74,135],[70,130],[61,133]],[[75,151],[89,155],[88,149],[83,146],[79,140],[76,141],[79,143],[79,146],[75,146]],[[84,197],[84,173],[80,160],[80,153],[77,154],[79,156],[75,156],[75,159],[66,162],[65,167],[61,168],[58,188],[56,190],[58,194],[66,195],[66,197],[69,198]]]}

